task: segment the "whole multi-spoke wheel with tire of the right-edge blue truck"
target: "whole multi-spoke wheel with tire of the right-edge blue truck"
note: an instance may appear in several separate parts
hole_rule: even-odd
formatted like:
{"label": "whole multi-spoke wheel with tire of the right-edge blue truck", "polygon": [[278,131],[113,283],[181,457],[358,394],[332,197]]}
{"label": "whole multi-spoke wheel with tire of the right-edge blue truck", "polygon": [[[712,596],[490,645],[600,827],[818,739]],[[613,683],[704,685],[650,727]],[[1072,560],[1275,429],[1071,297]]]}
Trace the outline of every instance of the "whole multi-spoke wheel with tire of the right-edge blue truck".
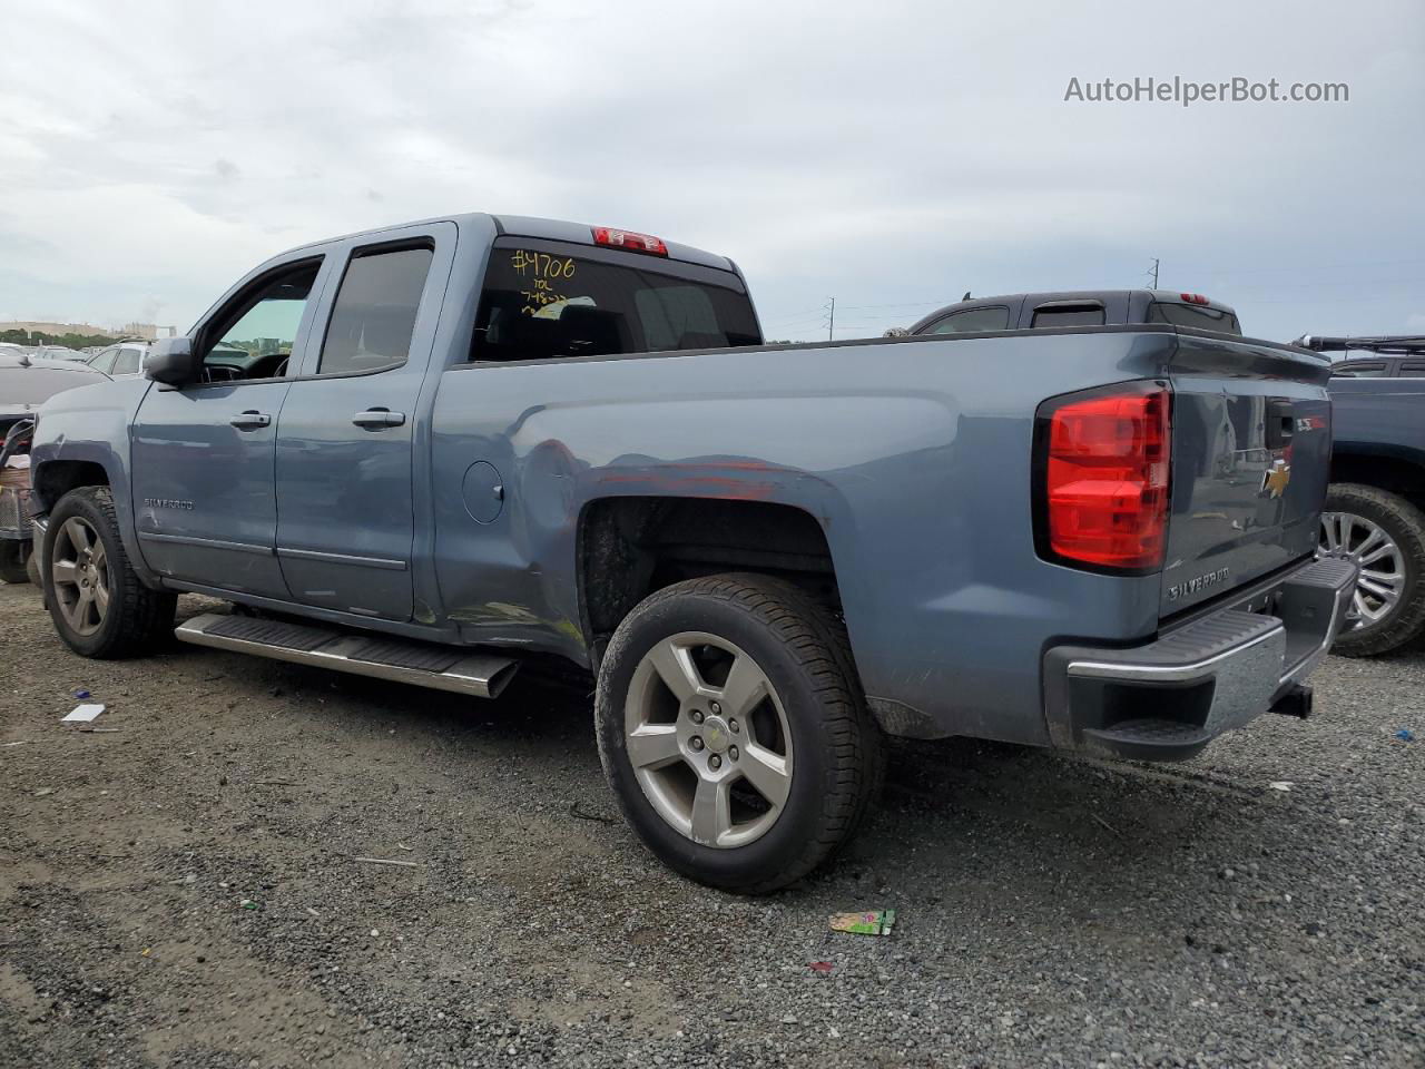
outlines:
{"label": "whole multi-spoke wheel with tire of the right-edge blue truck", "polygon": [[1332,653],[1389,653],[1425,630],[1425,513],[1408,500],[1374,486],[1332,483],[1321,513],[1320,556],[1361,569],[1347,630]]}

